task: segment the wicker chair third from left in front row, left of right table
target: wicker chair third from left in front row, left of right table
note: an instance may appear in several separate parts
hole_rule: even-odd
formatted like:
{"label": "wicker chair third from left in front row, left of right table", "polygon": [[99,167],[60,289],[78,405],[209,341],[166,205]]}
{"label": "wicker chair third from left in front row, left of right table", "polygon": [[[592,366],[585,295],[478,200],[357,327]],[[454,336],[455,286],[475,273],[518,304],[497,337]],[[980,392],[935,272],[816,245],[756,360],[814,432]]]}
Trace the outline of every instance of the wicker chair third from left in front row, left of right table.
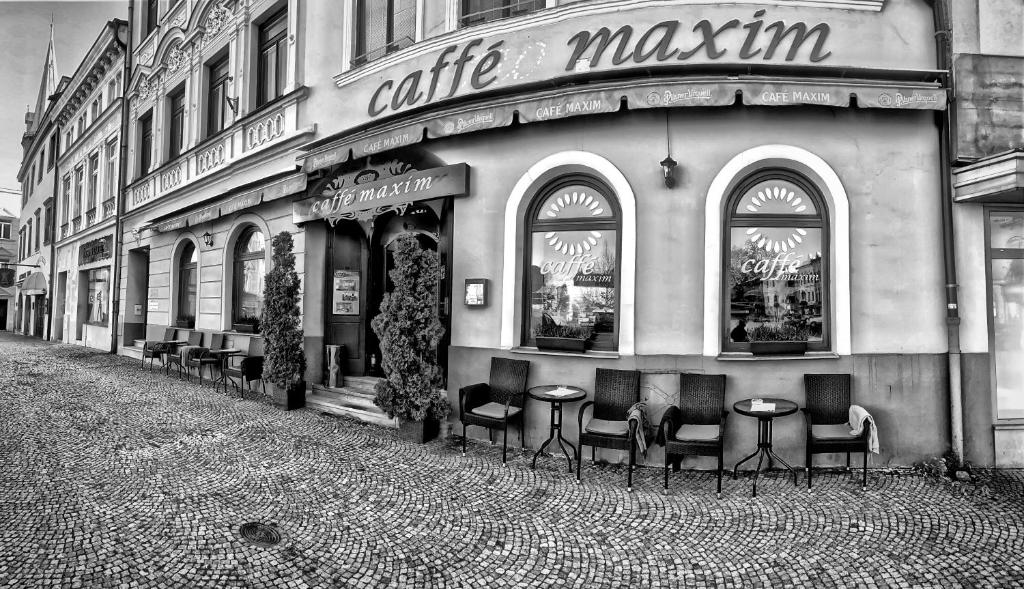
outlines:
{"label": "wicker chair third from left in front row, left of right table", "polygon": [[725,440],[724,374],[680,374],[679,405],[662,418],[658,435],[665,441],[665,490],[669,464],[678,471],[683,456],[718,458],[718,498],[722,498],[722,452]]}

